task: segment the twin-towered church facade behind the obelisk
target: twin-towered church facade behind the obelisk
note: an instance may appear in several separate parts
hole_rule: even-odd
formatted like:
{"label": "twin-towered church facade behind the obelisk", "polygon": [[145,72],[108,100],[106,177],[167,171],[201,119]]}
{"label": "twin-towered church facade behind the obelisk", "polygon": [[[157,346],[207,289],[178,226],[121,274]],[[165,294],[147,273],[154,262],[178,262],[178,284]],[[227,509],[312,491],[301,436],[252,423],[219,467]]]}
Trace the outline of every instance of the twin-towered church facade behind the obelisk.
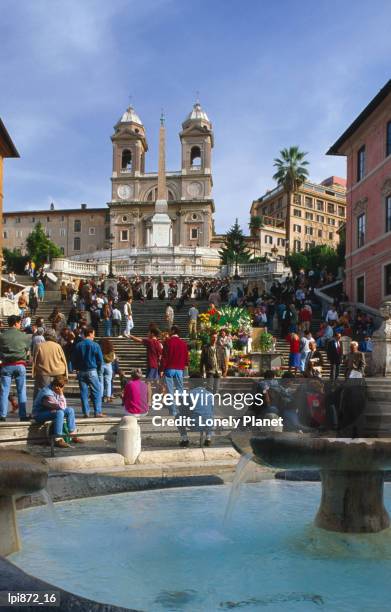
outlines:
{"label": "twin-towered church facade behind the obelisk", "polygon": [[[167,213],[172,247],[209,249],[214,234],[212,124],[197,102],[182,124],[180,170],[166,172]],[[140,252],[154,247],[152,218],[158,200],[158,172],[145,172],[145,127],[129,107],[114,127],[110,228],[113,248]]]}

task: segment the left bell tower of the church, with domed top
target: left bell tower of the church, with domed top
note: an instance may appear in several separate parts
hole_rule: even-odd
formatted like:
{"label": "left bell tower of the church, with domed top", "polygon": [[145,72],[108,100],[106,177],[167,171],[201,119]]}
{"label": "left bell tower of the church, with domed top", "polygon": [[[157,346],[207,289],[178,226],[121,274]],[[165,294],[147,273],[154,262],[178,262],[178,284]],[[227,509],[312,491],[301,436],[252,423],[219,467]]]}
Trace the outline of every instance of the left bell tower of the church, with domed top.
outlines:
{"label": "left bell tower of the church, with domed top", "polygon": [[145,153],[148,144],[140,117],[132,106],[114,126],[113,177],[136,177],[145,173]]}

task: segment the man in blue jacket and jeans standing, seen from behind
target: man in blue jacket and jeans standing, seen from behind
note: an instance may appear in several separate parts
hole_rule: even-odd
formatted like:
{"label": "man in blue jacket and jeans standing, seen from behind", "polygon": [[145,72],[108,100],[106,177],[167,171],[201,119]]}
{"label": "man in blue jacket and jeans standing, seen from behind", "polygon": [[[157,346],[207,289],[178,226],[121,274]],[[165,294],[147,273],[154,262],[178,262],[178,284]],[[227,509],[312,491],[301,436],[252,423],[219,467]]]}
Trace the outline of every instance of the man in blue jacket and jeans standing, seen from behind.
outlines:
{"label": "man in blue jacket and jeans standing, seen from behind", "polygon": [[91,390],[94,416],[101,418],[103,415],[100,374],[103,365],[103,354],[99,344],[94,342],[95,330],[92,327],[86,328],[84,336],[84,340],[75,344],[72,352],[72,365],[77,370],[84,418],[90,416],[90,405],[88,403],[89,390]]}

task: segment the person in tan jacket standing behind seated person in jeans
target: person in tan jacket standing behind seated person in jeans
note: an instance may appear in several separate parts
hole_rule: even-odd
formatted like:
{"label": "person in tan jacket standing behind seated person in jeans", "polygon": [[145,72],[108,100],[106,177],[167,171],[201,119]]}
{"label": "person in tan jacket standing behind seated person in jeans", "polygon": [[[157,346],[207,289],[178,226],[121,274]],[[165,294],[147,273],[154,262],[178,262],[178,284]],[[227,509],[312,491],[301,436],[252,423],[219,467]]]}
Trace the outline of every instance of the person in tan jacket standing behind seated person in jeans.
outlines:
{"label": "person in tan jacket standing behind seated person in jeans", "polygon": [[50,385],[55,376],[68,378],[67,360],[57,342],[55,330],[47,329],[44,338],[45,342],[38,345],[33,356],[34,398],[40,389]]}

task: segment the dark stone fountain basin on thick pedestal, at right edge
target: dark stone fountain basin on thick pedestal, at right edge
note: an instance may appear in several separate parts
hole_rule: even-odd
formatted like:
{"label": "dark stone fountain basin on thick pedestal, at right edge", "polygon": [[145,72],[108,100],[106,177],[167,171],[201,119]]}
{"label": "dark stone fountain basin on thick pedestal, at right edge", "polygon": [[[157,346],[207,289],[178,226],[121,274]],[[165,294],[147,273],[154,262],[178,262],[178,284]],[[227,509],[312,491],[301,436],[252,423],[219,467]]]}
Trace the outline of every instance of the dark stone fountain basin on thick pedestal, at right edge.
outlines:
{"label": "dark stone fountain basin on thick pedestal, at right edge", "polygon": [[[317,527],[343,533],[376,533],[390,526],[383,503],[384,471],[391,468],[389,439],[250,434],[249,443],[259,464],[320,470],[322,496],[315,517]],[[238,447],[241,443],[233,439],[233,444]]]}

